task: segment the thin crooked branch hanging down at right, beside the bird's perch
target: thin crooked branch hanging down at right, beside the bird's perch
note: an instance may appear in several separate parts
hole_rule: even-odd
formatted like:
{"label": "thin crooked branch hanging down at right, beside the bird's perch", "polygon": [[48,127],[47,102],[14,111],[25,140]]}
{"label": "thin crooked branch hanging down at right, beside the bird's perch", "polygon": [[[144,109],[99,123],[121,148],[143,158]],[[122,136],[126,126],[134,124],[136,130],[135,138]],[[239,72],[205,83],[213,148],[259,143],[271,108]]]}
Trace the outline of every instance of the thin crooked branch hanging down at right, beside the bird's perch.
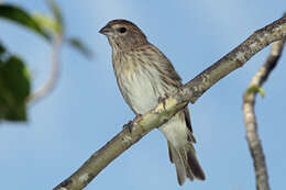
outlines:
{"label": "thin crooked branch hanging down at right, beside the bird's perch", "polygon": [[243,118],[246,130],[246,141],[249,144],[251,156],[253,158],[257,190],[270,190],[271,188],[268,185],[265,156],[263,154],[262,144],[257,133],[257,123],[254,112],[255,97],[258,92],[258,89],[267,80],[271,71],[275,68],[282,55],[284,44],[285,37],[282,41],[277,41],[273,44],[271,54],[268,55],[266,62],[252,78],[249,85],[249,89],[244,92],[243,98]]}

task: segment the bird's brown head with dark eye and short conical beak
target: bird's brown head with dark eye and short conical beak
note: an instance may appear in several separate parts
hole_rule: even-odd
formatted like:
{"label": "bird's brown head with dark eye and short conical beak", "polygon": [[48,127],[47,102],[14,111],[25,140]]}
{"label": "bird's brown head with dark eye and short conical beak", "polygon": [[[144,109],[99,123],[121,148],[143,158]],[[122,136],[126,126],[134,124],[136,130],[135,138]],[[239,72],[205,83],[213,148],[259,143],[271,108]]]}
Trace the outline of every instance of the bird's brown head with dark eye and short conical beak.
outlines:
{"label": "bird's brown head with dark eye and short conical beak", "polygon": [[147,43],[144,33],[127,20],[110,21],[99,33],[108,37],[113,51],[130,51]]}

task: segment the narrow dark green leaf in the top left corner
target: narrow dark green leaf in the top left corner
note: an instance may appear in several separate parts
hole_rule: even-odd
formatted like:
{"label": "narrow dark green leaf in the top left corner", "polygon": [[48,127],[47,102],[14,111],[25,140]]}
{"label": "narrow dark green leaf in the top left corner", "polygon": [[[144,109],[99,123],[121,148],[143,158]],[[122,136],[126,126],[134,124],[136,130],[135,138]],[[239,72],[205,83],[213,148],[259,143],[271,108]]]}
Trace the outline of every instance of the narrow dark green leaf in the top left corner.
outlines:
{"label": "narrow dark green leaf in the top left corner", "polygon": [[26,11],[19,7],[12,4],[0,4],[0,18],[21,24],[51,41],[51,36],[32,19]]}

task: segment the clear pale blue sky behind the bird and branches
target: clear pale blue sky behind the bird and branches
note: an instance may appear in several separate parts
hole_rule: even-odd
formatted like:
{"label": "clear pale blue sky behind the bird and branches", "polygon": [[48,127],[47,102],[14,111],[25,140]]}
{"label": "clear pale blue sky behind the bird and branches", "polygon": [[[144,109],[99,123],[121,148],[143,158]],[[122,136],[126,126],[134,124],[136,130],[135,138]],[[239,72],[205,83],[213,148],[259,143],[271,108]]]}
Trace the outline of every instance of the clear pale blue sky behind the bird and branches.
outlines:
{"label": "clear pale blue sky behind the bird and branches", "polygon": [[[47,12],[40,0],[6,2]],[[117,87],[111,48],[98,33],[108,21],[128,19],[136,23],[186,82],[286,11],[285,0],[58,0],[58,3],[67,34],[81,37],[96,56],[87,60],[65,46],[61,79],[53,93],[29,109],[28,123],[1,123],[3,190],[52,189],[133,119]],[[3,20],[0,40],[29,63],[33,86],[40,87],[50,74],[48,44]],[[155,130],[110,164],[86,189],[255,189],[242,118],[242,93],[268,52],[265,48],[255,55],[190,105],[196,149],[206,181],[178,186],[166,141]],[[256,105],[272,189],[285,189],[285,70],[286,52],[264,86],[266,97],[258,97]]]}

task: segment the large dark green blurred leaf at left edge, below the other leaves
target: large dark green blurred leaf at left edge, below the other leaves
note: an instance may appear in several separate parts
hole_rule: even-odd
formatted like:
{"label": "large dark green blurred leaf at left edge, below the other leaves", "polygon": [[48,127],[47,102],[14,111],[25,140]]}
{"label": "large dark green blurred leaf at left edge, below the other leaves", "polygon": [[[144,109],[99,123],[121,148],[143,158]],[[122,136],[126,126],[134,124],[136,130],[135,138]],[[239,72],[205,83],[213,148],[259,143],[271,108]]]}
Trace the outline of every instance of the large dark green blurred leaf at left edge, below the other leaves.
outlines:
{"label": "large dark green blurred leaf at left edge, below the other leaves", "polygon": [[0,121],[26,121],[30,76],[23,62],[10,56],[0,64]]}

